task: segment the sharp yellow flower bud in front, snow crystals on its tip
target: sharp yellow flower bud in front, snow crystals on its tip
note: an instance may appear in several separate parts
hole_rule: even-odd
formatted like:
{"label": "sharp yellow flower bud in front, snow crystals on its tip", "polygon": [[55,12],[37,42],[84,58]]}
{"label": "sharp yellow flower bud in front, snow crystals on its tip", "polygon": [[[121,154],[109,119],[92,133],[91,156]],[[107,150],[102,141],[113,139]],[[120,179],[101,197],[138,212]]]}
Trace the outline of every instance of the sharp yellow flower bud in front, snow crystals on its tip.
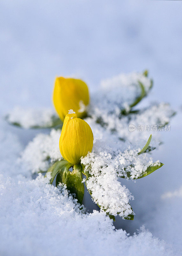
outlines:
{"label": "sharp yellow flower bud in front, snow crystals on its tip", "polygon": [[90,126],[77,118],[71,109],[62,126],[59,148],[62,157],[71,164],[78,164],[93,148],[93,133]]}

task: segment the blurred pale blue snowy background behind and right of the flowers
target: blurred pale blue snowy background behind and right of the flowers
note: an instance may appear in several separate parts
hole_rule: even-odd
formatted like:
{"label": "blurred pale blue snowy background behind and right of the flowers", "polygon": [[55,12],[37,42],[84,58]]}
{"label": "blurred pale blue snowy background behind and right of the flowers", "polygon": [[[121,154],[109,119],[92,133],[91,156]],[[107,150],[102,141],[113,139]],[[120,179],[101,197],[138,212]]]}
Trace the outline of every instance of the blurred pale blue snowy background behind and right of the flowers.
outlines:
{"label": "blurred pale blue snowy background behind and right of the flowers", "polygon": [[[52,107],[55,76],[81,78],[92,92],[101,79],[149,69],[154,87],[141,106],[166,101],[178,114],[171,131],[161,135],[164,144],[152,154],[165,165],[136,183],[122,180],[135,196],[136,216],[134,221],[117,218],[115,227],[133,234],[145,225],[179,249],[182,2],[1,0],[0,13],[1,115],[16,105]],[[4,127],[24,145],[40,132]]]}

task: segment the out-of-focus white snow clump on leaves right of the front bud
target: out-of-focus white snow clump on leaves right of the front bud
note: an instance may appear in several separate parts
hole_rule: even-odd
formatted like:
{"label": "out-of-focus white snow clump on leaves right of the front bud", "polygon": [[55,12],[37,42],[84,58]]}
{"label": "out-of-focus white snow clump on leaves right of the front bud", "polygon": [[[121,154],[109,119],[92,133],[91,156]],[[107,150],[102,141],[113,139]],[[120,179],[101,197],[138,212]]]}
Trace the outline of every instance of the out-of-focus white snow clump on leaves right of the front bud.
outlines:
{"label": "out-of-focus white snow clump on leaves right of the front bud", "polygon": [[[115,96],[116,95],[117,92],[115,92]],[[94,121],[101,120],[99,122],[103,124],[107,130],[111,132],[114,131],[122,140],[129,139],[133,142],[140,139],[148,140],[149,135],[152,133],[154,140],[151,141],[151,146],[153,147],[157,147],[157,144],[160,143],[160,141],[157,143],[158,133],[152,131],[152,125],[168,124],[170,117],[174,113],[169,104],[166,103],[151,104],[151,106],[139,110],[137,115],[129,114],[127,116],[121,116],[117,107],[114,112],[111,112],[111,108],[109,107],[98,108],[97,105],[95,106],[95,108],[92,107],[92,109],[94,109],[94,112],[92,113]],[[130,124],[135,126],[136,130],[134,132],[129,131],[128,127]],[[145,130],[145,127],[147,126],[149,127],[149,130]],[[143,128],[139,130],[139,127]]]}

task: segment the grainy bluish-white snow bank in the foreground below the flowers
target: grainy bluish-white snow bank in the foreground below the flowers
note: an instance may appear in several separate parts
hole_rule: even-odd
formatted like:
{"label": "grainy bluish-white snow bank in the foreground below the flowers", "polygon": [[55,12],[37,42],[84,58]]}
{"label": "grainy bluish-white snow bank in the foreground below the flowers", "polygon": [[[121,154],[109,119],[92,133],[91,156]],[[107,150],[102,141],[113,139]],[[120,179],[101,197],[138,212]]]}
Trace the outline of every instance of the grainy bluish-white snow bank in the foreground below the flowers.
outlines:
{"label": "grainy bluish-white snow bank in the foreground below the flowers", "polygon": [[[4,135],[2,129],[0,134]],[[128,236],[122,229],[114,230],[104,212],[85,214],[65,188],[48,184],[42,174],[32,180],[16,173],[21,150],[16,136],[1,137],[0,145],[5,149],[0,175],[2,255],[173,255],[149,231]]]}

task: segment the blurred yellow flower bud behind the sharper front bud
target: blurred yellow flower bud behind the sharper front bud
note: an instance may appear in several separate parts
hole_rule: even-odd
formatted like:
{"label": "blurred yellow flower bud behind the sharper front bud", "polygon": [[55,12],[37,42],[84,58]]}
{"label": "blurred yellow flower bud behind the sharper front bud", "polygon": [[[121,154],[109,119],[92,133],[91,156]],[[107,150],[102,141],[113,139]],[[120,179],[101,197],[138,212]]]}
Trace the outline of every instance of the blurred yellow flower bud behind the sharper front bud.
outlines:
{"label": "blurred yellow flower bud behind the sharper front bud", "polygon": [[84,81],[74,78],[56,77],[53,92],[53,103],[62,121],[69,109],[82,118],[89,104],[89,90]]}

